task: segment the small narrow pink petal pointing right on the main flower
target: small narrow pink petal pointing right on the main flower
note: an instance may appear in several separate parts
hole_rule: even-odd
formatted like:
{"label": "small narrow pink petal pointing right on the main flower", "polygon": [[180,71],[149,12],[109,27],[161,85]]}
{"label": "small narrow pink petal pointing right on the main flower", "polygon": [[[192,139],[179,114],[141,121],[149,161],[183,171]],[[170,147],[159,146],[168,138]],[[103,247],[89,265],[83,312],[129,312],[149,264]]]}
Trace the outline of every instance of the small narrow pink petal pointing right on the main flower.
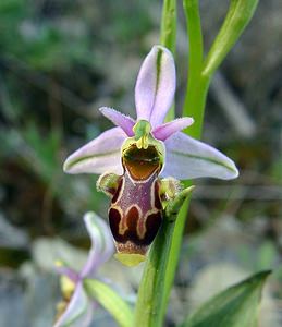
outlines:
{"label": "small narrow pink petal pointing right on the main flower", "polygon": [[170,121],[165,124],[162,124],[160,126],[157,126],[152,131],[152,135],[157,140],[165,141],[169,138],[172,134],[182,131],[183,129],[192,125],[194,122],[193,118],[189,117],[184,117],[184,118],[179,118],[173,121]]}

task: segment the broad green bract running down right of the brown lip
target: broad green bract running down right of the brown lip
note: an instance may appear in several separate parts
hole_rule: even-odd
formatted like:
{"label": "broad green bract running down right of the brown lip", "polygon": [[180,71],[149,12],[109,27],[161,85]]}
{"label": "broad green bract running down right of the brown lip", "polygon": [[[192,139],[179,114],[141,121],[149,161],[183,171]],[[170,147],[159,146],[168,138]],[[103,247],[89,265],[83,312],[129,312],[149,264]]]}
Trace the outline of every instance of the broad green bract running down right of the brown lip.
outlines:
{"label": "broad green bract running down right of the brown lip", "polygon": [[177,231],[183,230],[181,228],[179,221],[171,222],[165,218],[154,241],[139,286],[134,327],[163,326],[176,267],[173,256],[175,249],[177,251],[181,245],[181,241],[176,246],[172,239]]}

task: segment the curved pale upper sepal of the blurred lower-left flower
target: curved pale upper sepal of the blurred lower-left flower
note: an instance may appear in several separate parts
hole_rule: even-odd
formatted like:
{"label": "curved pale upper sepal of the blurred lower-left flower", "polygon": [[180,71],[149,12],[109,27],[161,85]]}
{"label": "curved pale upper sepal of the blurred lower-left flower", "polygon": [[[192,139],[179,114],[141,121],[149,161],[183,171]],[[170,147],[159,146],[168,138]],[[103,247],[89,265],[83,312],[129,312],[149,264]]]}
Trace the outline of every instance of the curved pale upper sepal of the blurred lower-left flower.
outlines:
{"label": "curved pale upper sepal of the blurred lower-left flower", "polygon": [[84,222],[91,239],[91,249],[81,277],[89,278],[112,256],[114,244],[109,226],[98,215],[93,211],[85,214]]}

